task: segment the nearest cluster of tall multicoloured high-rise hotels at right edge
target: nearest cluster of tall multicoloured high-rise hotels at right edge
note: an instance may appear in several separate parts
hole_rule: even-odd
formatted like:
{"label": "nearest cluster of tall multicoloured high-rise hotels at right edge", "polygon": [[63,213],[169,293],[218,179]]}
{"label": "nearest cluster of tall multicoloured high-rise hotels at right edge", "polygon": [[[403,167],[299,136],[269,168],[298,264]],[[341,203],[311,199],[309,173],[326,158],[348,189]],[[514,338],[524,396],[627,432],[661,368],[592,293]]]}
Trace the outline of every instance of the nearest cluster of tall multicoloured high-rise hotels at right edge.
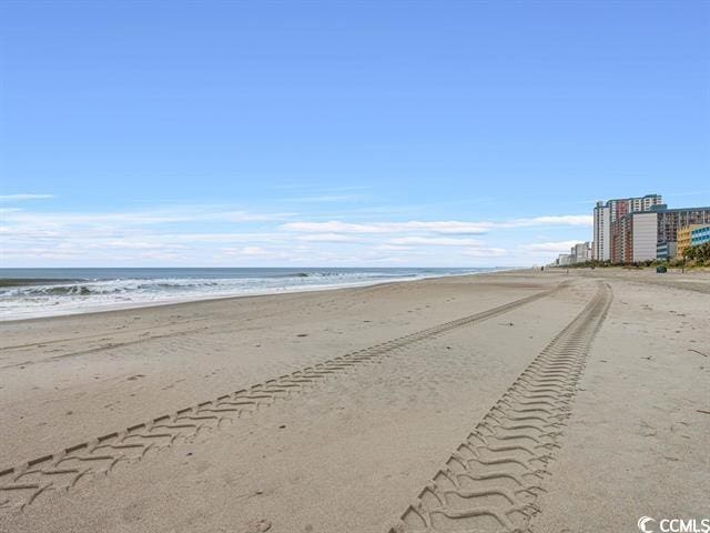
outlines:
{"label": "nearest cluster of tall multicoloured high-rise hotels at right edge", "polygon": [[710,242],[708,228],[710,207],[668,209],[660,194],[597,202],[591,257],[612,263],[671,259]]}

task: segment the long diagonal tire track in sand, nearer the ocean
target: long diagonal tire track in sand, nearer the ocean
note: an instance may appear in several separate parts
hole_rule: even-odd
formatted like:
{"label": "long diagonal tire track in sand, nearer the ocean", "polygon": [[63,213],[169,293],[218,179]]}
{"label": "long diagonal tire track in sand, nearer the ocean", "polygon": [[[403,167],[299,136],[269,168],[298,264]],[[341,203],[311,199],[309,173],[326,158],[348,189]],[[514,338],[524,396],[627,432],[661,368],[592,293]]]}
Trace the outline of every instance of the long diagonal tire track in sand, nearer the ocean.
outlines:
{"label": "long diagonal tire track in sand, nearer the ocean", "polygon": [[22,510],[49,491],[68,491],[89,475],[108,474],[120,462],[140,461],[148,452],[170,446],[179,439],[190,440],[202,430],[219,429],[225,421],[248,415],[277,400],[296,395],[331,375],[373,362],[388,352],[412,346],[454,329],[498,316],[546,298],[568,284],[562,282],[537,294],[351,352],[248,389],[67,446],[18,466],[0,470],[0,511]]}

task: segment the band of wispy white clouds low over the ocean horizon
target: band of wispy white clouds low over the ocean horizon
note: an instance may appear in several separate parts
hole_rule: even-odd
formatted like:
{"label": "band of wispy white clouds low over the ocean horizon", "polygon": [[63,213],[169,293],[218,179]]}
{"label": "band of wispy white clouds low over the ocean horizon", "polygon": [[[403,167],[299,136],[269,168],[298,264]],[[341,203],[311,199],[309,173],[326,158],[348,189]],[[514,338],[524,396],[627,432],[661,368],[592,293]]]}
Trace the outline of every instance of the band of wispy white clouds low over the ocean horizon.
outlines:
{"label": "band of wispy white clouds low over the ocean horizon", "polygon": [[[548,262],[588,240],[591,230],[591,215],[586,214],[366,221],[344,215],[321,221],[313,213],[224,204],[90,212],[20,204],[54,198],[51,194],[0,198],[6,200],[0,208],[3,266],[16,268],[517,266]],[[579,239],[521,243],[516,238],[520,231],[560,230]]]}

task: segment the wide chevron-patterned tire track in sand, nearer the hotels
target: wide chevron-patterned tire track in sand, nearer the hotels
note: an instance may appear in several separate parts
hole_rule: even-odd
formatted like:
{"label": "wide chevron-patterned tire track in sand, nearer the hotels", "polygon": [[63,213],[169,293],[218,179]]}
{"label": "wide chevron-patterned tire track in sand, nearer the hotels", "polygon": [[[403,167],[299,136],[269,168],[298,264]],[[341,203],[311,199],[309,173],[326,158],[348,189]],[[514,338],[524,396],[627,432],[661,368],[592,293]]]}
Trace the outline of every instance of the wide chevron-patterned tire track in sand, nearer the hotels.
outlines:
{"label": "wide chevron-patterned tire track in sand, nearer the hotels", "polygon": [[560,447],[589,346],[611,304],[597,294],[513,383],[389,533],[523,532]]}

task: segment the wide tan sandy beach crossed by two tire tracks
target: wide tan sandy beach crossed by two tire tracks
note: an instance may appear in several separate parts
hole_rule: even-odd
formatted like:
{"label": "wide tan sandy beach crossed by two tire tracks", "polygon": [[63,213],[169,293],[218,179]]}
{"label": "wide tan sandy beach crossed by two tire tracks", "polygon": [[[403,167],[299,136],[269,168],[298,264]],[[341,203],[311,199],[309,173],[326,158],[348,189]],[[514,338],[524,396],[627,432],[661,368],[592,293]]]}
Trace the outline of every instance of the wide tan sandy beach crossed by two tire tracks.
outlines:
{"label": "wide tan sandy beach crossed by two tire tracks", "polygon": [[0,531],[707,517],[709,293],[517,271],[0,323]]}

